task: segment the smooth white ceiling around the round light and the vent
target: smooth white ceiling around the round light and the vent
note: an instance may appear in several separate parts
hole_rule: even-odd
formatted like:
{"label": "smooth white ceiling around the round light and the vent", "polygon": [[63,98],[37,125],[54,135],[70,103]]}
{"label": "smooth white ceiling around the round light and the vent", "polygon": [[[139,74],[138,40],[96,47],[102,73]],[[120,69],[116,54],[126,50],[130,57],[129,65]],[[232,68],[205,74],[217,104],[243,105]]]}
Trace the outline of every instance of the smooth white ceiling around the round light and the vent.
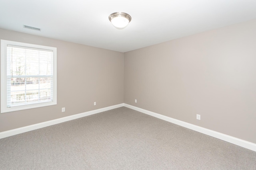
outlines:
{"label": "smooth white ceiling around the round light and the vent", "polygon": [[[125,29],[114,12],[132,17]],[[0,28],[120,52],[255,18],[256,0],[0,0]]]}

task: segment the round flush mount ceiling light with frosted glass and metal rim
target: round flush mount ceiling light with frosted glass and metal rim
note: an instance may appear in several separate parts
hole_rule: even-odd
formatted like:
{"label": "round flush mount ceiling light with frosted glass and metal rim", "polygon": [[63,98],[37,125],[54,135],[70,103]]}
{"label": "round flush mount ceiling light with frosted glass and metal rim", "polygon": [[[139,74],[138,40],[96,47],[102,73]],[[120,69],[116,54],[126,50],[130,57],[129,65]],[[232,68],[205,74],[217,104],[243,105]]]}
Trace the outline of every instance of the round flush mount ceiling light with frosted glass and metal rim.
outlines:
{"label": "round flush mount ceiling light with frosted glass and metal rim", "polygon": [[132,17],[124,12],[115,12],[108,19],[117,29],[124,29],[132,20]]}

